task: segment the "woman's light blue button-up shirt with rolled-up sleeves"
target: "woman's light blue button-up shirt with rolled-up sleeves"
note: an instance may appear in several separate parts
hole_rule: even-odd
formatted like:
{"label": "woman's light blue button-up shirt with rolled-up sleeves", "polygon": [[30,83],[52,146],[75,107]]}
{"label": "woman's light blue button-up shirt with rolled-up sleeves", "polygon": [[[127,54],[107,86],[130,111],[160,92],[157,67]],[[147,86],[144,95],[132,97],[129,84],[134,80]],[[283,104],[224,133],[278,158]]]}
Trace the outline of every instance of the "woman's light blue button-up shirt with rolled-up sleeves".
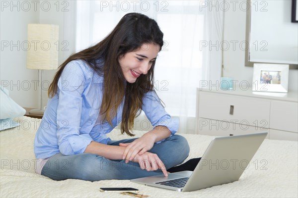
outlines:
{"label": "woman's light blue button-up shirt with rolled-up sleeves", "polygon": [[[122,119],[123,103],[117,110],[112,126],[108,122],[95,124],[103,95],[103,77],[82,60],[73,60],[64,68],[58,93],[48,105],[34,140],[36,158],[47,158],[58,152],[73,155],[84,152],[91,141],[107,144],[106,136]],[[152,126],[165,126],[172,134],[179,121],[165,111],[154,91],[143,98],[142,110]]]}

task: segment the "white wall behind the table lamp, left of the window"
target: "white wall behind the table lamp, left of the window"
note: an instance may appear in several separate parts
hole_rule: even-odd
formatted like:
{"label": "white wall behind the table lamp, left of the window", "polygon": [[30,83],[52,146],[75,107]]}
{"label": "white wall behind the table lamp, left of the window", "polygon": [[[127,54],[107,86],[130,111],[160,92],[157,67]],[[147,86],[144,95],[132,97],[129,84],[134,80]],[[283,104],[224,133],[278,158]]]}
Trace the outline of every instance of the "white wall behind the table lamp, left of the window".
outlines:
{"label": "white wall behind the table lamp, left of the window", "polygon": [[[64,23],[65,18],[75,19],[74,1],[1,1],[0,26],[0,81],[9,90],[10,97],[23,107],[40,106],[40,87],[37,87],[38,70],[26,68],[27,24],[47,23],[59,25],[60,65],[74,52],[75,23]],[[50,2],[50,6],[48,6]],[[59,2],[59,3],[57,3]],[[66,3],[67,2],[67,3]],[[18,44],[10,49],[10,42]],[[8,47],[2,44],[9,43]],[[64,43],[62,43],[64,42]],[[18,49],[19,48],[19,49]],[[56,48],[56,46],[55,46]],[[46,89],[57,70],[44,70],[43,85]],[[32,82],[33,81],[33,82]],[[34,82],[35,81],[35,82]],[[43,91],[43,106],[47,104],[47,90]]]}

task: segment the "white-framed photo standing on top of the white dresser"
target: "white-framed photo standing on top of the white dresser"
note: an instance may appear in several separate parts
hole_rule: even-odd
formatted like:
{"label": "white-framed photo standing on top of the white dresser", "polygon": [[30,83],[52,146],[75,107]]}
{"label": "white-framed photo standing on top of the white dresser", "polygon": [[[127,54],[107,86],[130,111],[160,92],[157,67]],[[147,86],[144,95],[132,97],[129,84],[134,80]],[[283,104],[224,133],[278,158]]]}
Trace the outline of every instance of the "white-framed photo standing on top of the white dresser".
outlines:
{"label": "white-framed photo standing on top of the white dresser", "polygon": [[288,93],[289,65],[253,65],[252,91]]}

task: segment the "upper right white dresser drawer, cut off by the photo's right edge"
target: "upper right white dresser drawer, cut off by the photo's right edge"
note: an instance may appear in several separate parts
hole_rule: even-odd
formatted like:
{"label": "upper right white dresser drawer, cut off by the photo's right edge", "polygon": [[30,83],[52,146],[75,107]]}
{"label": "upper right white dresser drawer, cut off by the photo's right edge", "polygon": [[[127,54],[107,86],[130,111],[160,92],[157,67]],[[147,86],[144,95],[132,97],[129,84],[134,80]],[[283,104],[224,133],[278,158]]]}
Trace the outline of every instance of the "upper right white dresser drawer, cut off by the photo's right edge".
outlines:
{"label": "upper right white dresser drawer, cut off by the photo's right edge", "polygon": [[298,103],[272,101],[270,128],[298,133]]}

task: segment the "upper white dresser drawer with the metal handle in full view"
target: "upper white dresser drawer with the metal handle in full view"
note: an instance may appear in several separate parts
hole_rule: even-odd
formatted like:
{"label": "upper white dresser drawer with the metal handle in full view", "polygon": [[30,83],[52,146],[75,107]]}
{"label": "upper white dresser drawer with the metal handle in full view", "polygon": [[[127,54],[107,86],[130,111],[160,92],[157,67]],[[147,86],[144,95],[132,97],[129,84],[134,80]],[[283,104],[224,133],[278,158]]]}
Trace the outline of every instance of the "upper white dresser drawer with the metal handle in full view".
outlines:
{"label": "upper white dresser drawer with the metal handle in full view", "polygon": [[199,93],[198,114],[201,118],[269,128],[270,101],[226,94]]}

